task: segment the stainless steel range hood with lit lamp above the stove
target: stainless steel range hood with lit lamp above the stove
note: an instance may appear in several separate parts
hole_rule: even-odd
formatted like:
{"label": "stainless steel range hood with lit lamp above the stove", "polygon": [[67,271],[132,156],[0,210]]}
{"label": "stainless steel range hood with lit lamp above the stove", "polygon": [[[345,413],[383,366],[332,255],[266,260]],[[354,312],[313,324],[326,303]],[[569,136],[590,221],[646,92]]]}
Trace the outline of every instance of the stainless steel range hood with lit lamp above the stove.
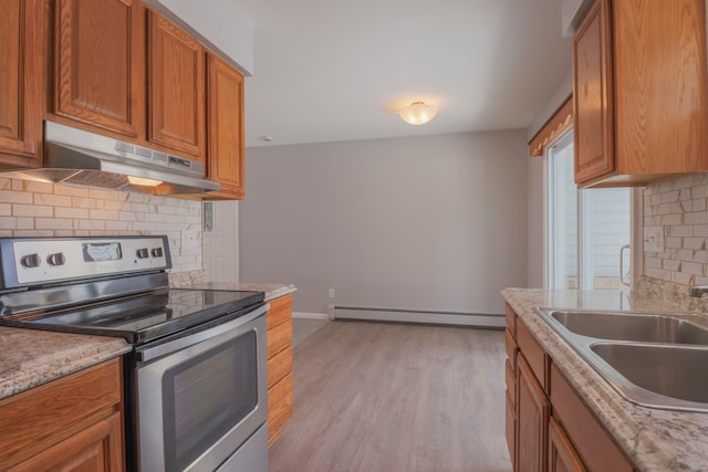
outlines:
{"label": "stainless steel range hood with lit lamp above the stove", "polygon": [[205,193],[221,185],[204,178],[202,162],[44,122],[44,167],[0,174],[23,180],[150,195]]}

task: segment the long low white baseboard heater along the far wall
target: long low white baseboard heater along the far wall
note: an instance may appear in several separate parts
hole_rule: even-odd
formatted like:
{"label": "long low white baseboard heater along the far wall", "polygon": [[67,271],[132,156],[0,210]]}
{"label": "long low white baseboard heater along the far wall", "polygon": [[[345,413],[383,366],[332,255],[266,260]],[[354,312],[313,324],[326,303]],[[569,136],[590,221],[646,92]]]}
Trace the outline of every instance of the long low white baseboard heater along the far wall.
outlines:
{"label": "long low white baseboard heater along the far wall", "polygon": [[407,308],[377,308],[372,306],[327,306],[330,319],[365,319],[376,322],[423,323],[435,325],[476,326],[485,328],[506,327],[503,314],[459,312],[435,312]]}

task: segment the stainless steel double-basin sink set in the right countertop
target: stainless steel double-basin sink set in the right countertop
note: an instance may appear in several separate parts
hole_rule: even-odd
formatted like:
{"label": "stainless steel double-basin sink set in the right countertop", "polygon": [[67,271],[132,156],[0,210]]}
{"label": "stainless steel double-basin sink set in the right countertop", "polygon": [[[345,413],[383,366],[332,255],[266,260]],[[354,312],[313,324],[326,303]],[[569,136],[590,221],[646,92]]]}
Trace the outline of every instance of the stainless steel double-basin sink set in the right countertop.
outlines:
{"label": "stainless steel double-basin sink set in the right countertop", "polygon": [[708,412],[708,317],[535,312],[615,390],[635,403]]}

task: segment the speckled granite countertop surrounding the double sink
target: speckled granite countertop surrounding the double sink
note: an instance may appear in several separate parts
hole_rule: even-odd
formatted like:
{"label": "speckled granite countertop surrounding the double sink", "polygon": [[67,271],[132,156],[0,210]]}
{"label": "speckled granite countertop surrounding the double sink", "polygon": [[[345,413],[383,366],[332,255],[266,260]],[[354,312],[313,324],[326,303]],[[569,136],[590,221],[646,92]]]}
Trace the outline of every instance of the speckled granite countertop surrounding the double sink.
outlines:
{"label": "speckled granite countertop surrounding the double sink", "polygon": [[708,413],[659,410],[625,400],[533,312],[534,306],[664,313],[685,313],[686,310],[626,292],[504,289],[502,295],[642,471],[705,471],[708,468]]}

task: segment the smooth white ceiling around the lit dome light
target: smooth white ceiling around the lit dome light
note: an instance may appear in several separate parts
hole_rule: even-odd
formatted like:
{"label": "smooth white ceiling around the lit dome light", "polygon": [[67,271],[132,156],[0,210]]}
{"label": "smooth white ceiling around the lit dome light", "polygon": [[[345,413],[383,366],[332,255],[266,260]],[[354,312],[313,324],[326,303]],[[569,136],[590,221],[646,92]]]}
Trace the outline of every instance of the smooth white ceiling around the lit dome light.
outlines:
{"label": "smooth white ceiling around the lit dome light", "polygon": [[[571,71],[561,0],[231,1],[254,30],[247,147],[525,128]],[[437,117],[404,123],[413,101]]]}

